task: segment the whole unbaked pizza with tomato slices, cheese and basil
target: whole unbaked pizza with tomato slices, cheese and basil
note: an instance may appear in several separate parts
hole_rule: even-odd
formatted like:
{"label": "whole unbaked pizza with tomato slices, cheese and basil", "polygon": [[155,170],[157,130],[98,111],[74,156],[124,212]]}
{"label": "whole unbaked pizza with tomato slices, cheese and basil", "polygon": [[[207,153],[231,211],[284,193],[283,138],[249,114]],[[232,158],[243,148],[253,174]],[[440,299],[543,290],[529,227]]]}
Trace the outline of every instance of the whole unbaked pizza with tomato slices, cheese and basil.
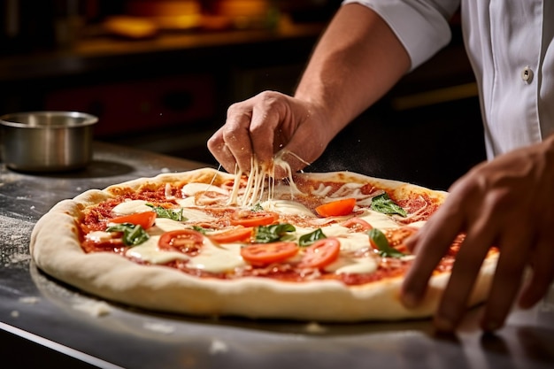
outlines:
{"label": "whole unbaked pizza with tomato slices, cheese and basil", "polygon": [[[358,173],[212,168],[90,189],[36,223],[30,251],[58,281],[189,316],[348,322],[433,315],[464,234],[418,308],[399,299],[418,232],[448,194]],[[471,304],[486,296],[492,249]]]}

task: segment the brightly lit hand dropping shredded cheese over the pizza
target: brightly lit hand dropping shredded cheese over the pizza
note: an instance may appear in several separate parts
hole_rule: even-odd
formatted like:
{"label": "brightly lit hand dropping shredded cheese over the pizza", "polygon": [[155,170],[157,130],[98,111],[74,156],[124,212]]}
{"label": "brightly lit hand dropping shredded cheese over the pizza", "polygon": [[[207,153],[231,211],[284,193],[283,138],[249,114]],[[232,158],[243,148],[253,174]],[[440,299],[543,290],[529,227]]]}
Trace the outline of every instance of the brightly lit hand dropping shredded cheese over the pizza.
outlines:
{"label": "brightly lit hand dropping shredded cheese over the pizza", "polygon": [[[319,158],[331,141],[332,134],[325,127],[325,114],[315,105],[265,91],[231,105],[225,125],[212,135],[208,148],[229,173],[235,172],[235,164],[242,173],[249,173],[253,154],[259,163],[269,165],[280,150],[296,172]],[[275,177],[285,174],[275,167]]]}

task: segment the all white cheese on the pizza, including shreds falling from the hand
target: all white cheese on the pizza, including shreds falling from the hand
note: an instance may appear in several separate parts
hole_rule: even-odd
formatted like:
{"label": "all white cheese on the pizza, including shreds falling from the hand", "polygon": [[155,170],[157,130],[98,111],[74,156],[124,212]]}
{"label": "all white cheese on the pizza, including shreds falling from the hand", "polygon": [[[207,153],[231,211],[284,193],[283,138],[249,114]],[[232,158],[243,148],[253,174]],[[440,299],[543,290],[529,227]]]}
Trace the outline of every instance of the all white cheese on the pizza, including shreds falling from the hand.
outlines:
{"label": "all white cheese on the pizza, including shreds falling from the hand", "polygon": [[[175,221],[172,219],[157,218],[153,227],[148,229],[150,238],[148,241],[143,242],[138,246],[131,247],[127,250],[126,255],[129,258],[140,259],[150,264],[166,264],[173,260],[183,260],[189,268],[203,270],[209,273],[227,273],[237,268],[242,268],[246,263],[241,257],[241,248],[243,243],[213,243],[208,236],[204,236],[204,243],[200,252],[194,256],[187,255],[178,251],[168,251],[158,249],[158,240],[161,234],[174,230],[190,228],[191,225],[198,223],[210,223],[219,221],[218,218],[207,213],[203,209],[207,205],[196,204],[196,198],[198,194],[202,194],[206,191],[212,191],[218,193],[225,198],[227,196],[227,204],[238,207],[251,207],[253,205],[261,205],[265,211],[274,211],[284,215],[296,215],[306,219],[305,224],[310,224],[311,227],[299,227],[295,226],[296,232],[288,234],[289,239],[296,242],[304,234],[311,234],[316,229],[320,228],[323,234],[327,237],[335,237],[341,243],[341,251],[339,258],[331,265],[327,265],[327,272],[331,273],[374,273],[381,257],[378,253],[369,252],[366,250],[373,250],[369,236],[365,232],[354,232],[349,227],[343,227],[341,224],[343,221],[350,219],[353,215],[341,216],[341,217],[327,217],[320,218],[313,211],[308,209],[304,204],[294,201],[294,196],[300,193],[299,189],[294,184],[292,173],[290,171],[289,164],[278,156],[274,159],[273,165],[265,167],[258,164],[258,160],[253,157],[251,159],[250,175],[248,181],[244,181],[242,173],[235,171],[235,182],[232,189],[220,188],[212,183],[188,183],[181,188],[181,195],[183,198],[175,198],[171,196],[171,188],[165,188],[165,195],[168,200],[174,200],[182,209],[182,215],[184,219],[182,221]],[[274,165],[281,165],[289,175],[289,181],[287,185],[277,186],[273,179]],[[215,180],[216,177],[214,177]],[[312,195],[321,197],[322,201],[335,201],[336,199],[354,197],[357,199],[358,210],[362,210],[361,214],[357,212],[357,216],[360,219],[368,222],[372,227],[379,229],[395,228],[399,224],[393,217],[383,214],[378,211],[372,211],[365,206],[374,194],[363,194],[362,184],[359,183],[346,183],[341,188],[333,192],[331,186],[319,185]],[[285,193],[283,191],[287,191]],[[381,191],[382,192],[382,191]],[[380,193],[380,191],[375,191]],[[292,198],[292,200],[283,200],[281,198],[274,198],[277,195],[279,197]],[[325,199],[324,199],[325,197]],[[118,204],[114,207],[113,212],[118,215],[128,215],[142,211],[152,211],[151,207],[146,205],[147,202],[143,200],[130,200]],[[425,222],[421,221],[413,224],[414,227],[421,227]],[[220,227],[220,226],[219,226]],[[223,229],[217,229],[211,231],[210,234],[223,233],[227,229],[232,227],[224,227]],[[87,234],[89,240],[95,242],[102,242],[112,238],[112,234],[107,232],[92,232]],[[302,250],[302,249],[301,249]],[[365,257],[354,257],[357,255],[356,251],[362,250]],[[300,253],[302,253],[301,251]],[[292,260],[299,261],[300,253],[292,257]],[[360,252],[358,252],[360,254]],[[408,257],[406,257],[408,258]]]}

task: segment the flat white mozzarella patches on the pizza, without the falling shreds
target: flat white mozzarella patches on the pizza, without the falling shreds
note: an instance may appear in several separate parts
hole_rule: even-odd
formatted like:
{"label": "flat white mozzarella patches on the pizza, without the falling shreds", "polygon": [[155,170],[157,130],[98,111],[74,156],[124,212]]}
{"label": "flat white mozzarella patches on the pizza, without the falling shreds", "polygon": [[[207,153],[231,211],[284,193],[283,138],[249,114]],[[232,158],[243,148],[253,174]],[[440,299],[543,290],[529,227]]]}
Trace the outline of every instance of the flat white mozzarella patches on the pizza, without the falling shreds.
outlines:
{"label": "flat white mozzarella patches on the pizza, without the falling shreds", "polygon": [[[183,209],[183,216],[187,220],[179,222],[172,219],[156,219],[156,225],[149,230],[149,241],[127,250],[127,256],[142,259],[151,264],[165,264],[175,259],[186,260],[188,261],[187,266],[190,268],[200,269],[210,273],[226,273],[247,265],[240,254],[241,247],[243,246],[242,243],[224,243],[222,245],[215,245],[208,237],[205,237],[201,252],[194,257],[189,257],[181,252],[158,249],[159,235],[164,232],[187,228],[189,227],[187,223],[210,222],[217,220],[212,215],[202,211],[200,207],[194,205],[194,197],[192,196],[194,196],[194,194],[198,191],[204,191],[206,185],[201,183],[191,183],[191,185],[192,186],[189,186],[186,190],[183,190],[183,193],[186,193],[191,197],[177,199],[177,203],[180,204]],[[253,193],[259,189],[258,184],[254,184],[253,186],[254,188],[250,190],[250,193]],[[212,186],[212,188],[216,187]],[[223,193],[225,190],[218,192]],[[129,201],[120,205],[121,206],[118,205],[120,213],[142,211],[143,207],[150,210],[150,207],[146,206],[145,202],[141,200]],[[322,232],[327,237],[338,238],[341,242],[341,254],[334,263],[327,265],[326,270],[328,272],[374,273],[376,271],[378,267],[377,258],[379,258],[377,254],[375,254],[375,256],[365,258],[350,258],[347,256],[350,255],[352,251],[371,248],[367,234],[352,232],[350,228],[341,226],[340,223],[342,220],[349,219],[350,216],[321,219],[316,217],[315,214],[303,204],[299,204],[291,200],[266,200],[261,203],[261,205],[265,210],[271,210],[283,214],[295,214],[308,219],[313,219],[313,227],[296,226],[296,232],[289,234],[290,238],[294,239],[296,242],[298,242],[302,235],[310,234],[318,227],[321,228]],[[195,206],[195,209],[191,209],[189,206]],[[394,219],[377,211],[365,209],[365,211],[358,217],[364,219],[373,227],[381,229],[398,227],[398,224]],[[336,221],[336,223],[327,225],[333,221]],[[418,226],[420,226],[421,223],[423,222],[419,222]],[[218,232],[216,231],[216,233]],[[111,234],[105,232],[88,234],[88,237],[94,239],[103,239],[110,236]]]}

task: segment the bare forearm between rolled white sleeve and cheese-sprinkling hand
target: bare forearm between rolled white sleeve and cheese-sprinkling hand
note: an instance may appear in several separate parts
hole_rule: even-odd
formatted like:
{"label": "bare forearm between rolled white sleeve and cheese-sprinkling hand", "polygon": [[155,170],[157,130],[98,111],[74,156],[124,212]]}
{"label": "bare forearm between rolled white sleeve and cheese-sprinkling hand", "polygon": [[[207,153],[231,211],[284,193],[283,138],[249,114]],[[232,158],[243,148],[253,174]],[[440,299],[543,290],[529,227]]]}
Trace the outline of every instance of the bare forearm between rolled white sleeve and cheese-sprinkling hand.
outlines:
{"label": "bare forearm between rolled white sleeve and cheese-sprinkling hand", "polygon": [[408,53],[384,20],[363,5],[348,4],[321,37],[295,96],[318,106],[335,135],[409,68]]}

